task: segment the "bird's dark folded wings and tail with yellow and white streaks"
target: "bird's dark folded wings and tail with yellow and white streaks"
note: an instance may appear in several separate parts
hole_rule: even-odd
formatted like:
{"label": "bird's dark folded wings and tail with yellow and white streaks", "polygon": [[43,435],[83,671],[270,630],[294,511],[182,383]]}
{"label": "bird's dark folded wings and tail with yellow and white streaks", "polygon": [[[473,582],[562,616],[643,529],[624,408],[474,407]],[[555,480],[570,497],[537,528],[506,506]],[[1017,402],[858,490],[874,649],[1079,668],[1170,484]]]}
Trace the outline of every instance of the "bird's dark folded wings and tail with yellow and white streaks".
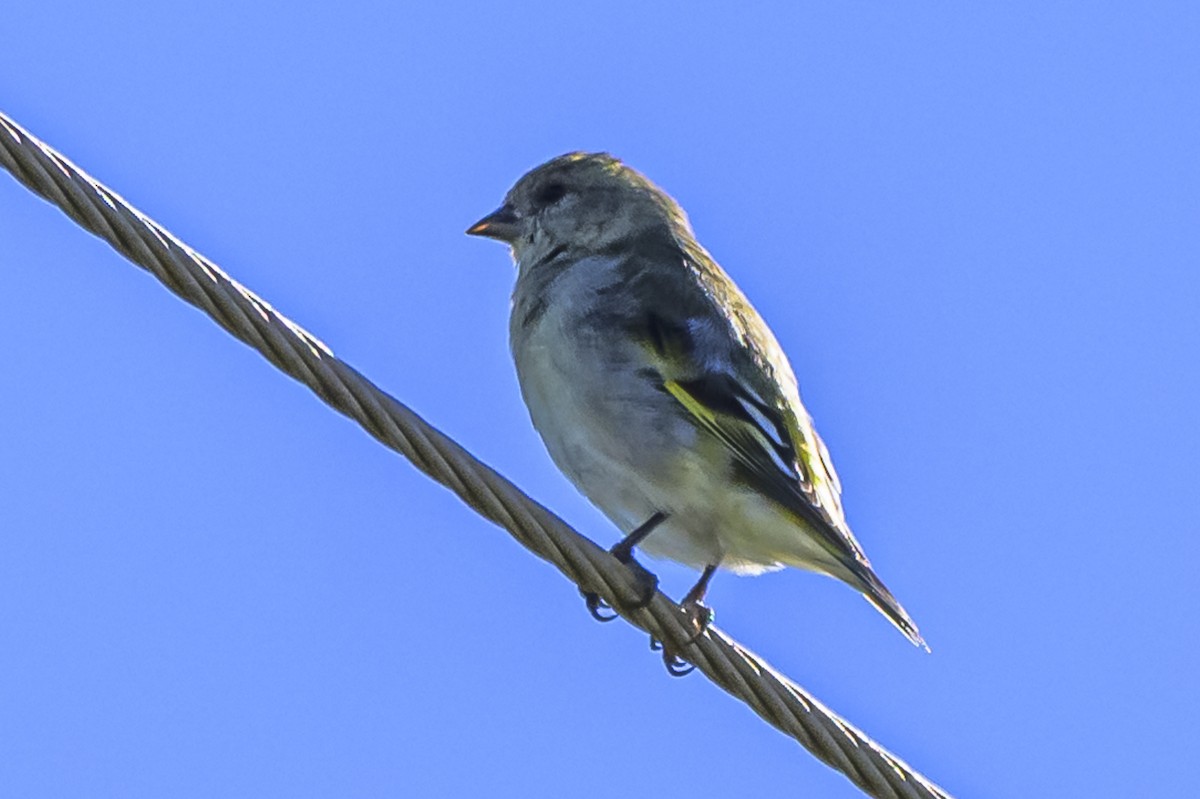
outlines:
{"label": "bird's dark folded wings and tail with yellow and white streaks", "polygon": [[[828,565],[841,566],[828,573],[862,591],[910,641],[924,645],[846,524],[838,473],[779,342],[695,240],[676,238],[674,245],[659,245],[654,254],[682,254],[692,280],[636,269],[638,260],[654,262],[649,257],[630,259],[635,269],[620,284],[626,294],[618,324],[642,342],[662,390],[730,451],[743,485],[792,513],[828,553]],[[662,308],[661,298],[671,298],[671,306]]]}

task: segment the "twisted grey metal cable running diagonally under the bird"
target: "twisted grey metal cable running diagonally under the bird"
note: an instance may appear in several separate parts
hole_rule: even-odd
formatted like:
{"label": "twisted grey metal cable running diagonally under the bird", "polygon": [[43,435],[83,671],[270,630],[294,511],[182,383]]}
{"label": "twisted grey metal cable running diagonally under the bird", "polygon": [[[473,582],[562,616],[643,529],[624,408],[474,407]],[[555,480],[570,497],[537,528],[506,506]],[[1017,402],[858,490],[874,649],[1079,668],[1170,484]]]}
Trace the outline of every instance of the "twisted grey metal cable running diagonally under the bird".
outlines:
{"label": "twisted grey metal cable running diagonally under the bird", "polygon": [[713,683],[866,794],[880,799],[949,799],[940,787],[716,627],[690,641],[685,614],[662,593],[655,593],[641,609],[625,609],[636,603],[640,589],[629,570],[608,552],[2,113],[0,164],[338,413],[450,488],[481,516],[503,527],[582,590],[599,594],[626,621],[666,642]]}

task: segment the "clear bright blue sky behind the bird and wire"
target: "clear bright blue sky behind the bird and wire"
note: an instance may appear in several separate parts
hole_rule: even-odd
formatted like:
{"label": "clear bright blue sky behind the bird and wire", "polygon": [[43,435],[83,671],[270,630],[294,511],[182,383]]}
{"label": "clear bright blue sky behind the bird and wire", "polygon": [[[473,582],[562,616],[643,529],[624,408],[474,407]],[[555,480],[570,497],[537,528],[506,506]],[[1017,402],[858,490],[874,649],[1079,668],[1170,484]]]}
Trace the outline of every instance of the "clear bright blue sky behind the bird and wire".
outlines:
{"label": "clear bright blue sky behind the bird and wire", "polygon": [[[395,5],[24,4],[0,109],[605,545],[462,232],[622,156],[934,651],[799,572],[719,625],[960,795],[1192,783],[1194,4]],[[0,795],[859,795],[7,178],[0,269]]]}

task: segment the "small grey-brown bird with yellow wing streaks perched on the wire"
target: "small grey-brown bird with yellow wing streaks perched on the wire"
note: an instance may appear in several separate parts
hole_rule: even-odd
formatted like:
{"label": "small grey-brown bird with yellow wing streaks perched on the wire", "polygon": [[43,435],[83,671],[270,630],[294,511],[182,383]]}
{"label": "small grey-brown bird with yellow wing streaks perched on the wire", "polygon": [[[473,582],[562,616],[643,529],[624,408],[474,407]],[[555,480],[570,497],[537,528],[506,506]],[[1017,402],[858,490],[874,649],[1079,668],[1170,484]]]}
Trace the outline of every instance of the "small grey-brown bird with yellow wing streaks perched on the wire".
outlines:
{"label": "small grey-brown bird with yellow wing streaks perched on the wire", "polygon": [[[655,581],[635,546],[701,570],[682,602],[697,633],[716,569],[797,566],[924,645],[846,524],[787,358],[666,192],[607,154],[572,152],[467,233],[512,250],[521,392],[554,463],[625,534],[612,552],[646,601]],[[598,597],[588,607],[610,618]]]}

